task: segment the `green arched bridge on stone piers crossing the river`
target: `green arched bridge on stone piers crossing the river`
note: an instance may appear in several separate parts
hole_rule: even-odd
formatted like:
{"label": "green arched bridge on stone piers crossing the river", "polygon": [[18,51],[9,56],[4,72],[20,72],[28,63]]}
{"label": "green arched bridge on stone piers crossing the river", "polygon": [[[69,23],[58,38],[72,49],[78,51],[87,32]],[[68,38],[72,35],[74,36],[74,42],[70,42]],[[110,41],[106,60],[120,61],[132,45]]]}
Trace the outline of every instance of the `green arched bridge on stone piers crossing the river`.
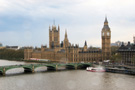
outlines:
{"label": "green arched bridge on stone piers crossing the river", "polygon": [[6,75],[6,71],[15,69],[15,68],[24,68],[24,72],[35,72],[35,69],[38,67],[46,66],[47,70],[58,70],[58,67],[65,67],[66,69],[83,69],[89,66],[92,66],[91,63],[68,63],[68,64],[24,64],[24,65],[8,65],[8,66],[0,66],[0,74]]}

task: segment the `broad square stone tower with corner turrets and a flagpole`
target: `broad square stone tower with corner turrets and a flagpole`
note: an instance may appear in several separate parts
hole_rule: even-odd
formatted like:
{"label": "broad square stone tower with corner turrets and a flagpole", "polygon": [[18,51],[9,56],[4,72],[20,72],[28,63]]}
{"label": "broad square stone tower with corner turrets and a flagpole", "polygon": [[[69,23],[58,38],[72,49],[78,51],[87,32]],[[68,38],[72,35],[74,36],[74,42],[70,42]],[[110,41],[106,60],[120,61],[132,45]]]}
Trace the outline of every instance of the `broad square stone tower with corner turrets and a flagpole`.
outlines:
{"label": "broad square stone tower with corner turrets and a flagpole", "polygon": [[60,27],[56,29],[55,25],[52,28],[49,26],[49,48],[55,48],[60,46]]}

